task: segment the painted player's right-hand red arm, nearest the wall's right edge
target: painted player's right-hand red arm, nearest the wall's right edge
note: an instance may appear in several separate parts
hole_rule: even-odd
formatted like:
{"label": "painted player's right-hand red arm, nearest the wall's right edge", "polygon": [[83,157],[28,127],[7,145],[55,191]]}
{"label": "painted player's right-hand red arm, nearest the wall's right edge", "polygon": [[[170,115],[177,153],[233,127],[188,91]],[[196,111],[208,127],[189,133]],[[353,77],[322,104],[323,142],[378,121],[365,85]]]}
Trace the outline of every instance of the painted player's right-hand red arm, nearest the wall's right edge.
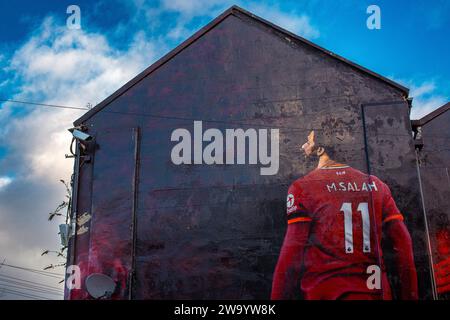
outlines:
{"label": "painted player's right-hand red arm, nearest the wall's right edge", "polygon": [[385,235],[391,241],[394,250],[395,265],[400,282],[400,299],[417,300],[417,274],[411,236],[400,219],[387,221],[383,225]]}

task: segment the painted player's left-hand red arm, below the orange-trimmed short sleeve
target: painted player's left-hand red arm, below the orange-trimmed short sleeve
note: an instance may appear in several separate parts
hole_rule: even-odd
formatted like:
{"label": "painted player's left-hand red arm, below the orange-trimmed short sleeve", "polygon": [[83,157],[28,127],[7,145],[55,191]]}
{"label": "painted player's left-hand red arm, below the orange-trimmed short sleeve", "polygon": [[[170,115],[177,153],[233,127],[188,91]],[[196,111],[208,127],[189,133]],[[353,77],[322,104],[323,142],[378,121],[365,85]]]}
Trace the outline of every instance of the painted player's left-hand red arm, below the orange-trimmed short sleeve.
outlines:
{"label": "painted player's left-hand red arm, below the orange-trimmed short sleeve", "polygon": [[288,300],[299,290],[303,252],[308,241],[310,222],[288,224],[272,282],[272,300]]}

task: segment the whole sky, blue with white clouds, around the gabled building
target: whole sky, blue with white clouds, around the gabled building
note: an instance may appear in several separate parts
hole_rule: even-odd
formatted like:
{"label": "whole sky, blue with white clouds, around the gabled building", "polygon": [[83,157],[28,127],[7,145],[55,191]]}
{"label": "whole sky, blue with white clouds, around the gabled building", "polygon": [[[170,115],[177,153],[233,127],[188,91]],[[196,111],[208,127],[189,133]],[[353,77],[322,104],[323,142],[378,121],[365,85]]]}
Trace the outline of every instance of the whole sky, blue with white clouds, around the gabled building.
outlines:
{"label": "whole sky, blue with white clouds, around the gabled building", "polygon": [[[66,27],[71,4],[80,30]],[[447,0],[1,1],[0,99],[95,105],[233,4],[410,88],[413,118],[450,100]],[[371,4],[380,30],[366,27]],[[40,255],[58,247],[47,213],[64,197],[66,129],[82,113],[0,103],[0,259],[55,263]]]}

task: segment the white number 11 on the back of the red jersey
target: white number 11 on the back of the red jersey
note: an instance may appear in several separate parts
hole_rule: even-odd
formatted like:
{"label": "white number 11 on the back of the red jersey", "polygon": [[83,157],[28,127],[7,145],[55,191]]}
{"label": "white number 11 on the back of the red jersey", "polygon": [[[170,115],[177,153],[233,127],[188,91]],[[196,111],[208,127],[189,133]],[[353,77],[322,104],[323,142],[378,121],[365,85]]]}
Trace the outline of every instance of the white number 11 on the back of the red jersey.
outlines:
{"label": "white number 11 on the back of the red jersey", "polygon": [[[358,209],[361,213],[363,227],[363,252],[370,252],[370,217],[369,204],[361,202]],[[353,253],[353,210],[350,202],[344,202],[341,207],[344,213],[345,252]]]}

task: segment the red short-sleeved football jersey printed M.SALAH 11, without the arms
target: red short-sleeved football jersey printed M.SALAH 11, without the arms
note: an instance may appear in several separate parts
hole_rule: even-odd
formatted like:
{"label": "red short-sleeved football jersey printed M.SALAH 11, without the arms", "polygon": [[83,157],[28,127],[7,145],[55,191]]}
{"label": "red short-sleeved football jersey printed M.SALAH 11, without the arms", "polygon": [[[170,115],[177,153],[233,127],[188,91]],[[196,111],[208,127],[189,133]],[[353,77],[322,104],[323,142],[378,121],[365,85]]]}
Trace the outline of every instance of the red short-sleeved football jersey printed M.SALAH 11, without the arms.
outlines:
{"label": "red short-sleeved football jersey printed M.SALAH 11, without the arms", "polygon": [[[403,216],[389,187],[375,176],[334,165],[296,180],[288,191],[287,221],[310,223],[301,278],[304,298],[367,293],[390,299],[380,243],[382,224],[392,219]],[[381,271],[381,289],[367,285],[374,270],[369,266]]]}

